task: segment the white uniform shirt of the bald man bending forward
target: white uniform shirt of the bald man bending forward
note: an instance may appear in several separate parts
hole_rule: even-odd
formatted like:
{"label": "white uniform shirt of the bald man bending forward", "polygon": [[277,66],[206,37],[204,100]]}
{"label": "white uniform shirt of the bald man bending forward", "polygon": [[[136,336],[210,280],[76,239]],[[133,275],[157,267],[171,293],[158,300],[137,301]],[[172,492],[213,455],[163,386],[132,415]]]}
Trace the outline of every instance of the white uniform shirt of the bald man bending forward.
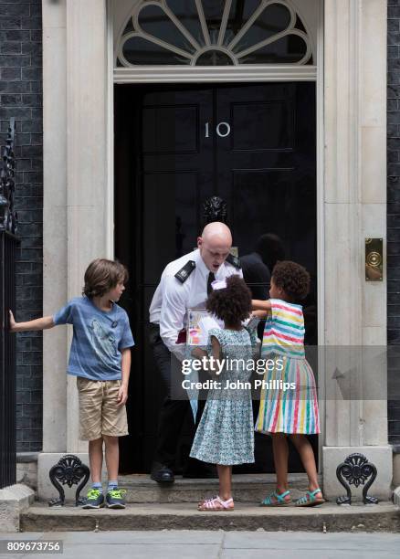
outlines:
{"label": "white uniform shirt of the bald man bending forward", "polygon": [[[195,262],[195,269],[182,283],[175,278],[176,272],[184,268],[189,261]],[[207,299],[207,280],[210,270],[196,248],[193,252],[170,262],[161,276],[160,283],[153,295],[150,305],[150,322],[160,324],[163,343],[179,359],[183,358],[183,344],[177,344],[179,332],[186,326],[188,309],[205,307]],[[242,270],[228,262],[223,262],[215,272],[216,280],[224,280],[233,274],[243,278]]]}

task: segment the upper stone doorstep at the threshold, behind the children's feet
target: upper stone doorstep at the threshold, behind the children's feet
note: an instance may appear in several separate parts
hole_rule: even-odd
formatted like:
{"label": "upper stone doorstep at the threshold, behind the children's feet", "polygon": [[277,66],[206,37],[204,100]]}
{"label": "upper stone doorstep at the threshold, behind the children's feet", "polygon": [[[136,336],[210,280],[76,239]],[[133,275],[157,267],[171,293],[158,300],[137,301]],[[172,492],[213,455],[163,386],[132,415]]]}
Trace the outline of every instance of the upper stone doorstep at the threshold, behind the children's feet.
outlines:
{"label": "upper stone doorstep at the threshold, behind the children's feet", "polygon": [[[218,480],[190,480],[176,476],[171,486],[161,486],[146,474],[121,476],[120,486],[127,490],[126,501],[131,503],[198,502],[206,495],[218,492]],[[272,474],[237,474],[233,476],[235,501],[258,503],[261,497],[275,489]],[[305,474],[290,474],[289,485],[293,499],[307,489]]]}

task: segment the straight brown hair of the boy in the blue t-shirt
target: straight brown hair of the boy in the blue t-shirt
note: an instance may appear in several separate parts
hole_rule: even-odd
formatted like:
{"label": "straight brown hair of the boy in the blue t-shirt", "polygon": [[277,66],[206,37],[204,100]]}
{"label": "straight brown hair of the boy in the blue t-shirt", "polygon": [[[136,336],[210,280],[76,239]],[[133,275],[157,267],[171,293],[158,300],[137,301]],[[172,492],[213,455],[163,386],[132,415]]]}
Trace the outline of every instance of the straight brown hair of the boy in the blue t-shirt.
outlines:
{"label": "straight brown hair of the boy in the blue t-shirt", "polygon": [[89,299],[102,297],[104,293],[112,290],[118,283],[126,283],[128,277],[128,270],[121,262],[96,258],[90,262],[86,269],[82,295],[86,295]]}

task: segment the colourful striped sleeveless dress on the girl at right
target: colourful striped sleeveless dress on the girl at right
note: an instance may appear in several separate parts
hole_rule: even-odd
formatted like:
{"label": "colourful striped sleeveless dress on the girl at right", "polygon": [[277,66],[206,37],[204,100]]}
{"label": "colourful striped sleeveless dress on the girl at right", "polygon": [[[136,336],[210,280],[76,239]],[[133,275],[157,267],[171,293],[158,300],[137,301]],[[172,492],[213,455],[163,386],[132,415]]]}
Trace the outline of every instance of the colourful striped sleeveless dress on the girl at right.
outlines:
{"label": "colourful striped sleeveless dress on the girl at right", "polygon": [[[317,388],[304,353],[302,307],[279,299],[270,302],[261,358],[273,359],[274,365],[264,374],[256,431],[319,433]],[[292,383],[292,388],[285,391],[283,383]]]}

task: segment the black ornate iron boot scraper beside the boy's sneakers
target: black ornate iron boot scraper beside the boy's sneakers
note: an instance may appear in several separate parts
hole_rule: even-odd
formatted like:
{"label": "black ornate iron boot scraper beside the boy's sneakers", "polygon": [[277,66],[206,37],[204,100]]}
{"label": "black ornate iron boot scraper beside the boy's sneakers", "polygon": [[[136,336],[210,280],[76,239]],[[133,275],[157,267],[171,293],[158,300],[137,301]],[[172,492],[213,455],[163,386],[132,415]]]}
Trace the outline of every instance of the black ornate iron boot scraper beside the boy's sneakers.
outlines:
{"label": "black ornate iron boot scraper beside the boy's sneakers", "polygon": [[58,463],[53,466],[48,472],[51,483],[58,490],[58,499],[52,499],[48,501],[49,507],[63,507],[65,503],[65,492],[61,486],[77,485],[79,483],[78,489],[75,494],[75,506],[84,504],[84,499],[79,497],[80,491],[86,485],[89,480],[89,468],[86,464],[82,464],[77,456],[74,454],[67,454],[58,460]]}

